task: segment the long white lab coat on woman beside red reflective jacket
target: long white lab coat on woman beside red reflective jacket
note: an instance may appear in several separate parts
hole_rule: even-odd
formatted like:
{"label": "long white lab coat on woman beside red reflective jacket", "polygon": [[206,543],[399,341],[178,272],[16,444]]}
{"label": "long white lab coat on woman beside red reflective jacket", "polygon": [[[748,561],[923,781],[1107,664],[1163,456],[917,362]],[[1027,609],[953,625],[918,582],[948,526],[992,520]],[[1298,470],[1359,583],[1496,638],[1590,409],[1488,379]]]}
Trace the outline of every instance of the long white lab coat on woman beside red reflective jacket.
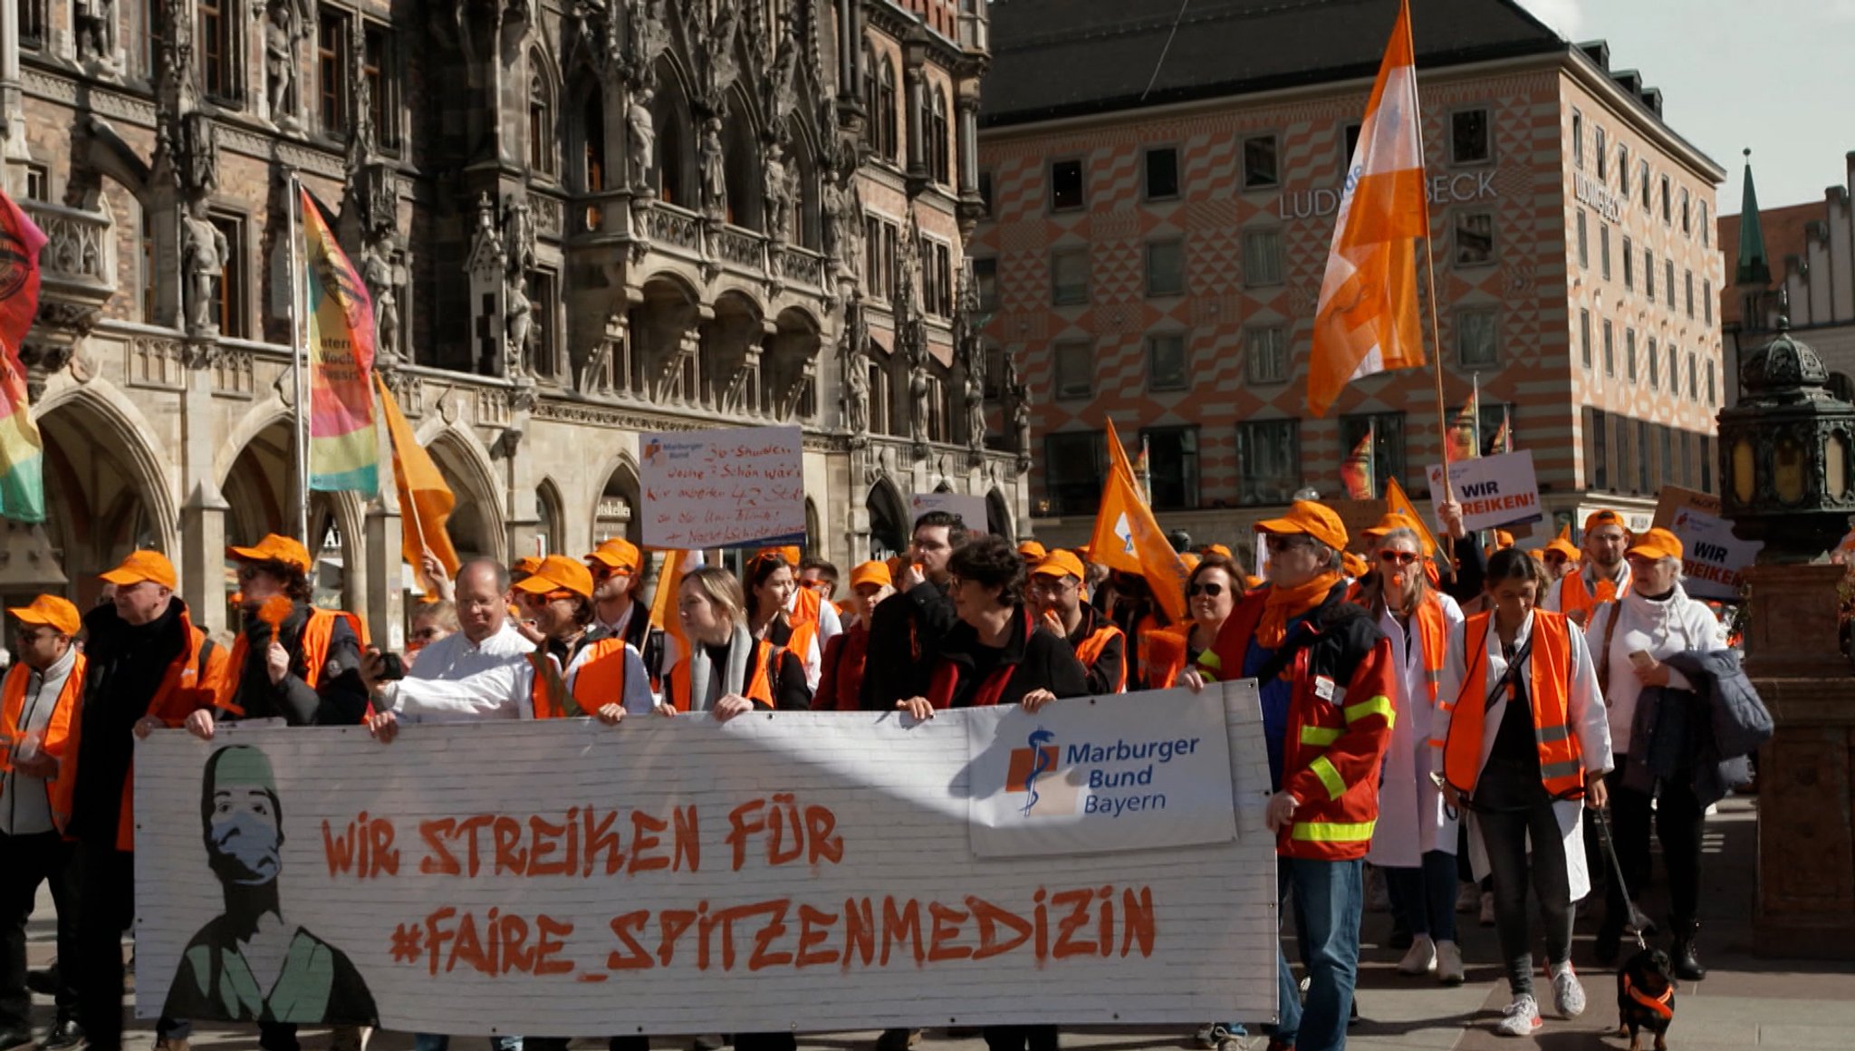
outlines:
{"label": "long white lab coat on woman beside red reflective jacket", "polygon": [[[1445,644],[1462,644],[1462,607],[1454,598],[1438,594],[1443,605]],[[1378,615],[1378,629],[1391,639],[1397,667],[1391,676],[1397,696],[1397,719],[1391,722],[1391,743],[1386,746],[1384,774],[1378,782],[1378,826],[1365,860],[1393,869],[1423,865],[1426,850],[1456,852],[1456,819],[1443,808],[1443,789],[1430,780],[1438,769],[1430,748],[1436,704],[1425,685],[1423,642],[1412,639],[1406,646],[1404,626],[1389,611]],[[1415,635],[1415,628],[1412,628]],[[1449,667],[1445,657],[1443,667]],[[1438,683],[1438,700],[1441,683]]]}

